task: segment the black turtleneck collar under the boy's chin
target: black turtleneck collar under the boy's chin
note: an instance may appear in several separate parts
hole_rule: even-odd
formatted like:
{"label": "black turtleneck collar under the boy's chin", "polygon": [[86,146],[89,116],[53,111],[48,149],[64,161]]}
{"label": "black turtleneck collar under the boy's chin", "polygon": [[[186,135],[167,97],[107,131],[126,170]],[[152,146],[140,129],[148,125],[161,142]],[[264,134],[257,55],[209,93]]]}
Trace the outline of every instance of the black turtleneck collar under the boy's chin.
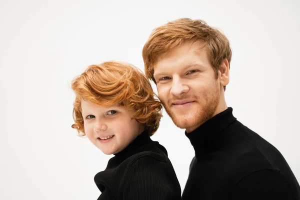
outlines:
{"label": "black turtleneck collar under the boy's chin", "polygon": [[137,152],[137,149],[140,146],[143,146],[145,144],[153,142],[149,136],[149,133],[147,130],[144,130],[142,133],[137,135],[137,137],[128,145],[126,146],[123,150],[121,150],[118,153],[115,153],[114,157],[110,158],[107,164],[106,168],[113,167],[115,165],[118,165],[121,163],[123,160],[126,158],[130,157],[134,153]]}

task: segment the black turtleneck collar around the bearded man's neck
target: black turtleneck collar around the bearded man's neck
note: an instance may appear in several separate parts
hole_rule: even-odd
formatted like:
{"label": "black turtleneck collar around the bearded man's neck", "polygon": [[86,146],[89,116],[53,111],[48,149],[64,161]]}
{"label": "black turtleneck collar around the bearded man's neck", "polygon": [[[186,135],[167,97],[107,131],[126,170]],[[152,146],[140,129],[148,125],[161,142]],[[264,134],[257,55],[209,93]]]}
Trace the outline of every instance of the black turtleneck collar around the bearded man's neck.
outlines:
{"label": "black turtleneck collar around the bearded man's neck", "polygon": [[195,154],[201,154],[209,151],[210,143],[213,142],[217,135],[222,132],[236,118],[232,115],[232,108],[228,107],[224,111],[214,115],[195,130],[185,135],[190,140],[195,150]]}

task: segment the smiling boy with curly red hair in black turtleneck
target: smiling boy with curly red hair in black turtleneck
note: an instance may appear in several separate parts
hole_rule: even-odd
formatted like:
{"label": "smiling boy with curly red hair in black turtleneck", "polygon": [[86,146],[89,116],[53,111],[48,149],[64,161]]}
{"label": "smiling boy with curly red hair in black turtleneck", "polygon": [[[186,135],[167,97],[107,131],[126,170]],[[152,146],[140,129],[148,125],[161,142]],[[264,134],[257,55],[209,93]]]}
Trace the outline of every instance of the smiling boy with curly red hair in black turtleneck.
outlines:
{"label": "smiling boy with curly red hair in black turtleneck", "polygon": [[146,77],[129,64],[104,62],[90,65],[71,87],[72,128],[115,155],[94,177],[98,199],[180,199],[167,152],[149,137],[159,126],[161,104]]}

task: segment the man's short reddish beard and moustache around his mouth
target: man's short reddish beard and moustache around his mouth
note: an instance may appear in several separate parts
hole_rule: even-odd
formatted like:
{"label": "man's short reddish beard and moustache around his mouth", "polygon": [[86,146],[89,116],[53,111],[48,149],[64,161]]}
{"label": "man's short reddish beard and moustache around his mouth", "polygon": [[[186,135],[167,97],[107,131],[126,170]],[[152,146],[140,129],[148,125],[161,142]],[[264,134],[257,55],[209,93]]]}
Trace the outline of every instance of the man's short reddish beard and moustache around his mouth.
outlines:
{"label": "man's short reddish beard and moustache around his mouth", "polygon": [[[191,113],[181,114],[179,111],[176,112],[174,108],[170,108],[172,106],[171,103],[166,105],[163,101],[161,102],[166,113],[171,117],[172,121],[177,127],[194,130],[196,127],[202,125],[215,114],[216,108],[220,101],[220,91],[216,89],[216,91],[212,92],[210,95],[204,94],[204,96],[193,96],[192,98],[173,98],[172,100],[180,99],[195,100],[193,103],[196,103],[197,108],[190,110]],[[203,99],[204,104],[201,104],[201,101],[199,101],[200,99]]]}

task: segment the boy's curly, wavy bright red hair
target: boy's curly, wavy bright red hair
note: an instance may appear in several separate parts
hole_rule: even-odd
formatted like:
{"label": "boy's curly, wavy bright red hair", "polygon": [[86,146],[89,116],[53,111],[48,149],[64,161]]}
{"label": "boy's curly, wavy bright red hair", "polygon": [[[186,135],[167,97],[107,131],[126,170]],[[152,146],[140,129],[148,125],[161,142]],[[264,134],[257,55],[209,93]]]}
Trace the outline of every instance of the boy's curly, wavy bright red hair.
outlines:
{"label": "boy's curly, wavy bright red hair", "polygon": [[76,95],[72,128],[77,129],[79,136],[85,135],[81,99],[100,106],[116,103],[132,108],[133,118],[145,125],[150,136],[159,126],[160,101],[145,75],[131,64],[109,61],[90,65],[72,80],[71,88]]}

